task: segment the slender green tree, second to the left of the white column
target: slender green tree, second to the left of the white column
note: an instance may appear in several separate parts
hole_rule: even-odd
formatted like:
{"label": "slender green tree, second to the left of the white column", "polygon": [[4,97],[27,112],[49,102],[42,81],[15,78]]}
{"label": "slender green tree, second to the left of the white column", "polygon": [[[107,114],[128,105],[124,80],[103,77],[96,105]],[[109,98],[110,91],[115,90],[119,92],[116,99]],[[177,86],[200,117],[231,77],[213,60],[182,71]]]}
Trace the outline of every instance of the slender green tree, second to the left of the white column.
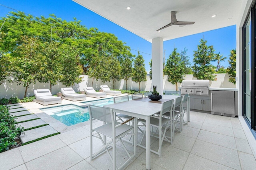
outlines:
{"label": "slender green tree, second to the left of the white column", "polygon": [[127,90],[127,81],[130,77],[132,77],[132,60],[128,57],[126,57],[122,63],[121,77],[126,81]]}

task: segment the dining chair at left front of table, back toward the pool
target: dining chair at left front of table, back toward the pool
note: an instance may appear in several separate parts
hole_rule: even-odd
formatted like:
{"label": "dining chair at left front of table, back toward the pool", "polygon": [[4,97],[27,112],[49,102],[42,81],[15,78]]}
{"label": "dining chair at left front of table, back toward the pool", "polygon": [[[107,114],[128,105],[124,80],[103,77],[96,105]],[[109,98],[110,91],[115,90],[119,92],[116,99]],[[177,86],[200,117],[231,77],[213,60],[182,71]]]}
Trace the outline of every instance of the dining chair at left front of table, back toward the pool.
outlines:
{"label": "dining chair at left front of table, back toward the pool", "polygon": [[[122,142],[122,138],[125,137],[127,134],[134,135],[134,127],[127,125],[126,123],[128,121],[131,121],[132,119],[129,119],[128,121],[124,123],[116,122],[114,119],[114,112],[112,109],[106,109],[104,107],[94,106],[94,105],[88,105],[89,114],[90,114],[90,160],[93,160],[94,158],[98,157],[99,155],[106,152],[108,156],[110,157],[113,166],[113,170],[119,170],[123,169],[128,162],[130,162],[136,155],[136,144],[134,145],[134,153],[131,155],[126,146],[124,145],[124,142]],[[106,124],[93,128],[92,127],[92,121],[93,120],[99,120]],[[109,137],[111,140],[106,142],[102,138],[104,136]],[[93,154],[93,137],[99,138],[103,144],[103,147],[98,150],[96,153]],[[122,161],[122,165],[120,167],[117,167],[116,165],[116,142],[120,141],[122,148],[124,148],[126,154],[128,155],[128,159],[124,162]],[[110,154],[110,150],[112,149],[112,155]]]}

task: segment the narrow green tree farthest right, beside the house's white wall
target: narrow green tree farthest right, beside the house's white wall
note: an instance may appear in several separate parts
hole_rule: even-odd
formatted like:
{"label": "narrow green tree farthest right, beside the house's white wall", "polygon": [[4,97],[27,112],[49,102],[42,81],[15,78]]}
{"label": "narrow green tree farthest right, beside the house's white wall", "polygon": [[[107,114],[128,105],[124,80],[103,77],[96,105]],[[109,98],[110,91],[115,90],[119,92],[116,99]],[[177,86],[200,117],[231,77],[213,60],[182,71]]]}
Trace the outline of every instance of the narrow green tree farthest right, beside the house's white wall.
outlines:
{"label": "narrow green tree farthest right, beside the house's white wall", "polygon": [[227,73],[230,76],[230,78],[228,79],[228,81],[230,83],[234,83],[236,84],[236,49],[232,49],[230,51],[230,55],[229,55],[229,66],[227,68]]}

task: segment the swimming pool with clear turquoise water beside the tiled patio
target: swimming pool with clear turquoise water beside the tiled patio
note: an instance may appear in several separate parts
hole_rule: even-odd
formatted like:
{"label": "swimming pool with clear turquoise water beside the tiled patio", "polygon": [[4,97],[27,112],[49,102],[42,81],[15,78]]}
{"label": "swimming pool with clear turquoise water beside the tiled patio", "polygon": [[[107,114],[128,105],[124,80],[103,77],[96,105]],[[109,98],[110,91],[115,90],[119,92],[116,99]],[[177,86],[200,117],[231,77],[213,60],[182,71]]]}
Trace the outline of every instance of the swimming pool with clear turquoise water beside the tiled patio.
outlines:
{"label": "swimming pool with clear turquoise water beside the tiled patio", "polygon": [[[131,99],[131,97],[129,98]],[[96,106],[104,106],[114,103],[114,99],[100,99],[96,101],[86,101],[82,103],[86,105],[90,104]],[[56,107],[48,107],[40,110],[67,126],[76,125],[78,123],[90,120],[88,107],[80,107],[70,104]]]}

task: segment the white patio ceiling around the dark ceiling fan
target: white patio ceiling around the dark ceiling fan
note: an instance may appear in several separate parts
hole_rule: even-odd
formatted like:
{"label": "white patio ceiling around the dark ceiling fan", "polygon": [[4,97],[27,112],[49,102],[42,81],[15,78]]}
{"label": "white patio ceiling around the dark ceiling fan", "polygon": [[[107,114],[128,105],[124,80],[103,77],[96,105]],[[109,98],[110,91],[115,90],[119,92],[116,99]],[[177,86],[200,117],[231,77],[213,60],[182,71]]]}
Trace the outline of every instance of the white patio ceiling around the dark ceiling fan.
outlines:
{"label": "white patio ceiling around the dark ceiling fan", "polygon": [[[96,14],[152,42],[164,41],[237,24],[242,0],[74,0]],[[131,9],[127,10],[126,7]],[[194,25],[170,26],[170,12],[177,11],[178,21]],[[212,18],[213,15],[216,17]]]}

